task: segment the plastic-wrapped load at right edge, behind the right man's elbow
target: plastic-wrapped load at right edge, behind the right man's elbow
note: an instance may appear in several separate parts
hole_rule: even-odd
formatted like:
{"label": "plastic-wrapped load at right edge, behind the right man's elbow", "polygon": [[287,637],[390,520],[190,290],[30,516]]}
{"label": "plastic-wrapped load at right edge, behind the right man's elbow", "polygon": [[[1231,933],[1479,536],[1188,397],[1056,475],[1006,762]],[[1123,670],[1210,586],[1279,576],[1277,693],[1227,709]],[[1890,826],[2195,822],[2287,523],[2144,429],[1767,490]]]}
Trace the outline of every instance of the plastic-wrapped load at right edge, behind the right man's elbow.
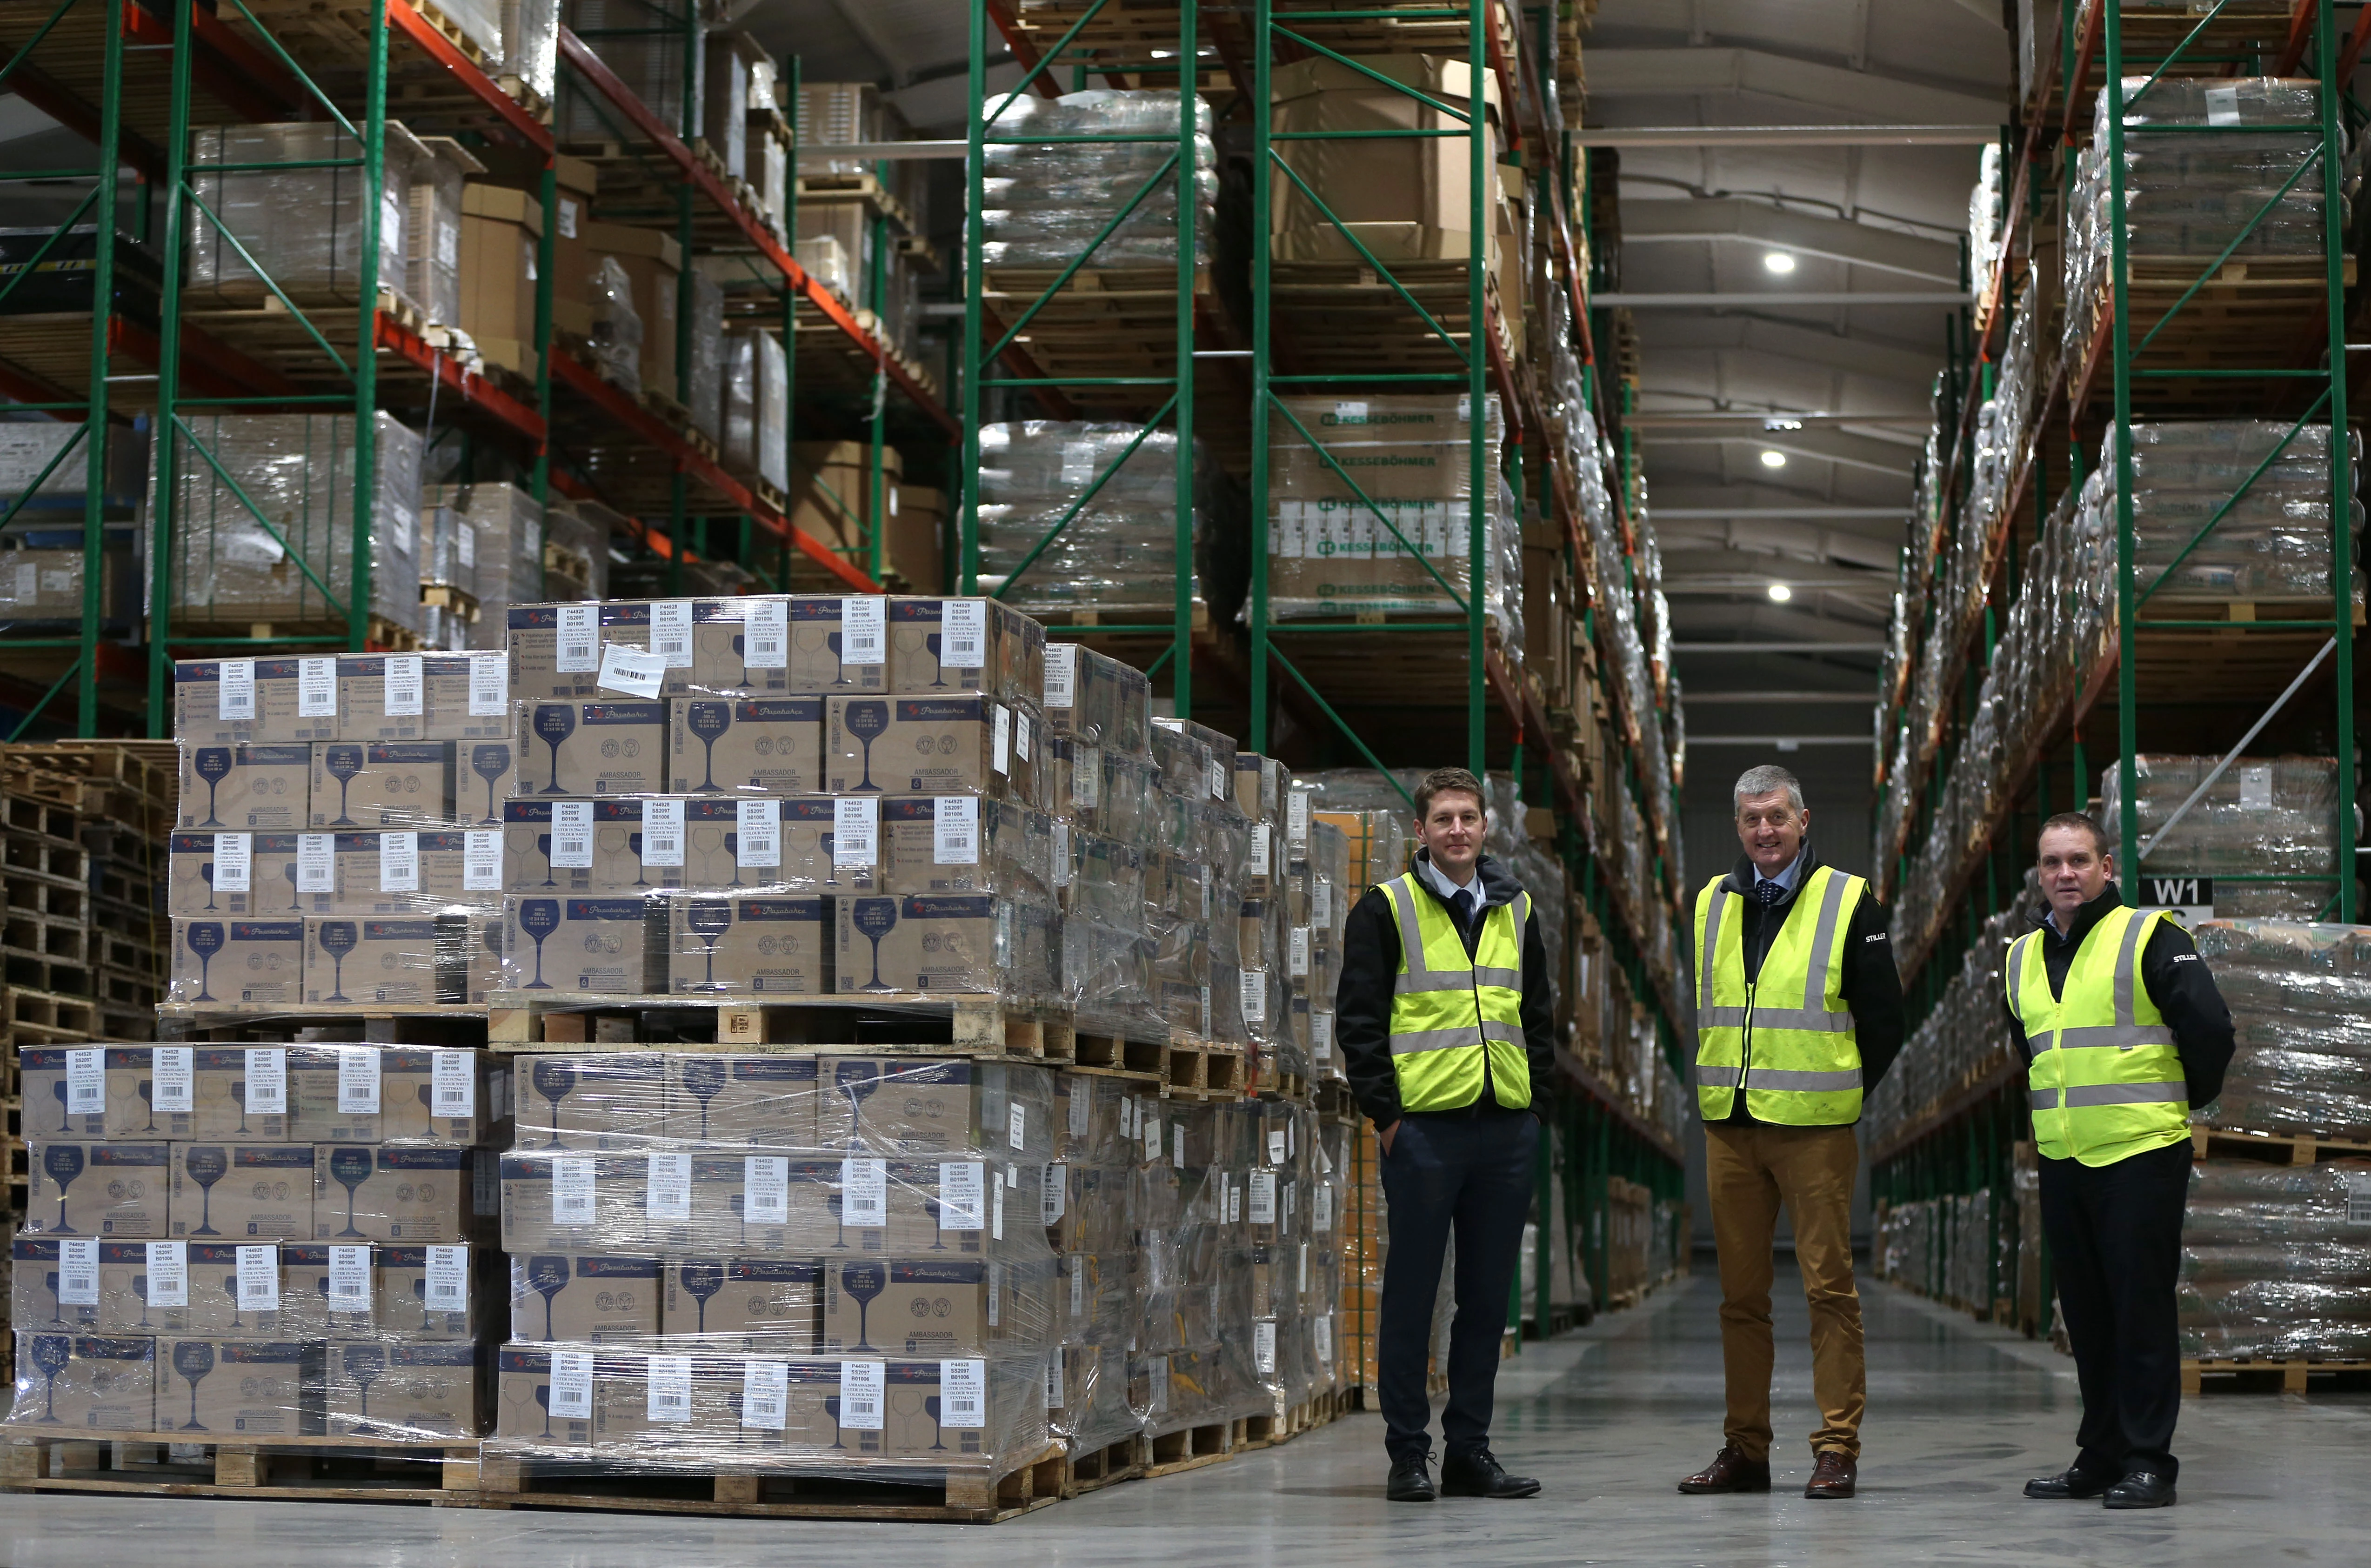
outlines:
{"label": "plastic-wrapped load at right edge, behind the right man's elbow", "polygon": [[2196,938],[2238,1023],[2222,1094],[2196,1120],[2371,1139],[2371,926],[2210,919]]}

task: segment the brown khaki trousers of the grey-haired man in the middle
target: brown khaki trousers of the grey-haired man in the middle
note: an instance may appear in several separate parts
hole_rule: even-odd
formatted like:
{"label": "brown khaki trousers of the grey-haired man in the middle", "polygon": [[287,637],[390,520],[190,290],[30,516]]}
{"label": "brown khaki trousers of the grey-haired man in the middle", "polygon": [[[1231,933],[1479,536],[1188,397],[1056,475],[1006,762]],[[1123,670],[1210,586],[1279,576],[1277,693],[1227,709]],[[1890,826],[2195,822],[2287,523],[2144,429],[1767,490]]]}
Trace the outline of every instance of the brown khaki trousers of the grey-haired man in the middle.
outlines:
{"label": "brown khaki trousers of the grey-haired man in the middle", "polygon": [[1721,1253],[1721,1367],[1728,1374],[1724,1440],[1747,1459],[1771,1452],[1771,1246],[1778,1206],[1795,1220],[1795,1260],[1811,1305],[1811,1397],[1821,1426],[1811,1452],[1861,1457],[1861,1296],[1852,1284],[1852,1182],[1861,1165],[1852,1127],[1705,1125],[1712,1239]]}

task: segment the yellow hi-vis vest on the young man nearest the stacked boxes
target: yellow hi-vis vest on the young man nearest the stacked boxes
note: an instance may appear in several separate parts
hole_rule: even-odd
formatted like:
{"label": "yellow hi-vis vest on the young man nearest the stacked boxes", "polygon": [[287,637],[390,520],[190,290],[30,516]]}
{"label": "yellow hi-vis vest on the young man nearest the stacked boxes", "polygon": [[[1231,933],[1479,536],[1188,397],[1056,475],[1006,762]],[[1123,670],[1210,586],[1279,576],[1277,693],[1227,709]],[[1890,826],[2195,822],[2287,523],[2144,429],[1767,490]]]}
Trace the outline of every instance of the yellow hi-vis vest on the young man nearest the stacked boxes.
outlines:
{"label": "yellow hi-vis vest on the young man nearest the stacked boxes", "polygon": [[[1480,888],[1480,883],[1475,883]],[[1449,910],[1415,872],[1382,883],[1399,926],[1392,978],[1392,1073],[1401,1111],[1461,1111],[1482,1097],[1484,1063],[1501,1106],[1532,1104],[1522,1049],[1522,928],[1532,895],[1515,893],[1482,917],[1472,957]]]}

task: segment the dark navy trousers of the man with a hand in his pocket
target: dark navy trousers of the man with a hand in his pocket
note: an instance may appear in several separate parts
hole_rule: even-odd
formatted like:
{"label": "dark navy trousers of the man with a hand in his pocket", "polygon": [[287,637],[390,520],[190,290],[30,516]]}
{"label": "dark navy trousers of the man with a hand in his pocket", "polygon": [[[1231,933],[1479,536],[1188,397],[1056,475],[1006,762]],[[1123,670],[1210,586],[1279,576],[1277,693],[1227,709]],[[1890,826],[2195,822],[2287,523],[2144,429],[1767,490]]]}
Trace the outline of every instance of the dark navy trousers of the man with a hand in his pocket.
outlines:
{"label": "dark navy trousers of the man with a hand in his pocket", "polygon": [[1451,1457],[1489,1447],[1498,1336],[1532,1208],[1529,1111],[1482,1116],[1404,1116],[1382,1156],[1392,1251],[1382,1260],[1382,1319],[1375,1326],[1375,1383],[1382,1395],[1382,1445],[1392,1461],[1432,1452],[1425,1426],[1425,1362],[1432,1303],[1442,1286],[1442,1248],[1458,1236],[1458,1310],[1449,1326],[1449,1409],[1442,1440]]}

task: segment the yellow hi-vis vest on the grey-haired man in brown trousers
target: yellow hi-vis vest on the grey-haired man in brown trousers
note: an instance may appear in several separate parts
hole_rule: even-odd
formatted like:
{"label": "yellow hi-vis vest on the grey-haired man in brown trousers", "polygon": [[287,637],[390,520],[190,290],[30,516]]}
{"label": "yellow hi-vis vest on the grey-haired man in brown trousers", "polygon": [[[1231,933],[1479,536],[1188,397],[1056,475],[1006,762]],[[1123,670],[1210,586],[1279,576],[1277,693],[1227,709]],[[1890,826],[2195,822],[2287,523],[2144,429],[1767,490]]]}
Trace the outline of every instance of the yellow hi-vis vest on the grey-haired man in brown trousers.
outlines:
{"label": "yellow hi-vis vest on the grey-haired man in brown trousers", "polygon": [[[1745,900],[1721,876],[1695,895],[1695,1108],[1728,1120],[1842,1127],[1861,1116],[1861,1042],[1845,1007],[1845,928],[1868,883],[1833,867],[1795,891],[1790,919],[1745,978]],[[1807,919],[1809,917],[1809,919]]]}

